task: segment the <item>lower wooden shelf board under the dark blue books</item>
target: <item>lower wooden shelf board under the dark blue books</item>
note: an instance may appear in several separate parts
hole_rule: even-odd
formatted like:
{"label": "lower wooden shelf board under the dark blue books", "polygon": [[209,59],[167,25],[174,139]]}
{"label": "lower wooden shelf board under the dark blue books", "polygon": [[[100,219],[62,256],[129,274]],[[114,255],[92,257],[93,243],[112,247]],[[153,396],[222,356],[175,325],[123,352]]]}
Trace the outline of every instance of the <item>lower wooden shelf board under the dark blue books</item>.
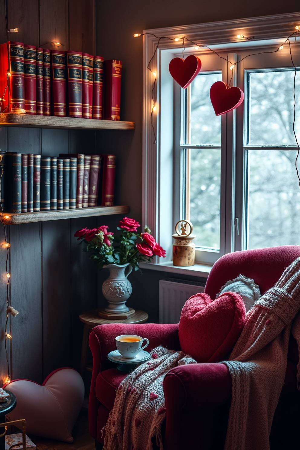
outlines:
{"label": "lower wooden shelf board under the dark blue books", "polygon": [[95,206],[81,209],[64,209],[59,211],[22,212],[15,214],[4,212],[0,220],[5,225],[24,224],[28,222],[43,222],[45,220],[76,219],[76,217],[109,216],[112,214],[127,214],[129,206]]}

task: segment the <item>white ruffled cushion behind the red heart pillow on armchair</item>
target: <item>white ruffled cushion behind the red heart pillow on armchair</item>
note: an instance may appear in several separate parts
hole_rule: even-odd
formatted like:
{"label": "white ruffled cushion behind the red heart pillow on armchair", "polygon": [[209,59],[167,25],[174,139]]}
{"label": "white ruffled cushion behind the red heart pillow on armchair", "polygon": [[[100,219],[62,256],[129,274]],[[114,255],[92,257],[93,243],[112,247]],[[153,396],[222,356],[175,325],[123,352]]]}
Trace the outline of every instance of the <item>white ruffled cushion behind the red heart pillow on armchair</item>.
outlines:
{"label": "white ruffled cushion behind the red heart pillow on armchair", "polygon": [[255,284],[255,281],[250,278],[246,278],[243,275],[240,275],[234,280],[230,280],[224,284],[220,292],[216,295],[216,298],[224,292],[236,292],[237,294],[240,294],[245,303],[246,313],[251,310],[256,300],[261,297],[260,288],[257,284]]}

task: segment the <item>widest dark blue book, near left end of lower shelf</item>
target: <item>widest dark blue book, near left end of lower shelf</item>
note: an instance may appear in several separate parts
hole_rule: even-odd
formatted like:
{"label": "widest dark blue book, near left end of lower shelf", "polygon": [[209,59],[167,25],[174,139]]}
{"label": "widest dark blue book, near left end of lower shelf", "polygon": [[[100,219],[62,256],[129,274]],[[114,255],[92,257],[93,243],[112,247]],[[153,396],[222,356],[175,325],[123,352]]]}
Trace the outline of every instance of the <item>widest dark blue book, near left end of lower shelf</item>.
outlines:
{"label": "widest dark blue book, near left end of lower shelf", "polygon": [[7,211],[22,212],[22,155],[7,153],[5,190],[7,192]]}

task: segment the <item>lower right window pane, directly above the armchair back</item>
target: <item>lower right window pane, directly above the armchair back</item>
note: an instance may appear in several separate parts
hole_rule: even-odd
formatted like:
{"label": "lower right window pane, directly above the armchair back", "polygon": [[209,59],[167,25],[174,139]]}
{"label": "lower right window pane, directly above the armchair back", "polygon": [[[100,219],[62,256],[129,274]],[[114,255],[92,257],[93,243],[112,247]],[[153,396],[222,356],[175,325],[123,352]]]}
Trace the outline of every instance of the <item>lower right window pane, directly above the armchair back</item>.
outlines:
{"label": "lower right window pane, directly above the armchair back", "polygon": [[248,150],[248,248],[300,244],[296,150]]}

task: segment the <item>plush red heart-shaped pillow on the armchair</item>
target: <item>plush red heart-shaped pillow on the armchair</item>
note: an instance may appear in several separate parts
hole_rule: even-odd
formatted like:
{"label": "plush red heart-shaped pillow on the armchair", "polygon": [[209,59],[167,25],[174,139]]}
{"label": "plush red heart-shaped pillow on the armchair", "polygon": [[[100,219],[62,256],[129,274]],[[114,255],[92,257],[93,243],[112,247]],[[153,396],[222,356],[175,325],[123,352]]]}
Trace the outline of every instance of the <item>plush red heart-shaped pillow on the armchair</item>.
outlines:
{"label": "plush red heart-shaped pillow on the armchair", "polygon": [[185,302],[179,321],[179,342],[184,353],[198,363],[218,362],[232,351],[244,323],[242,297],[226,292],[214,301],[207,294],[193,295]]}

